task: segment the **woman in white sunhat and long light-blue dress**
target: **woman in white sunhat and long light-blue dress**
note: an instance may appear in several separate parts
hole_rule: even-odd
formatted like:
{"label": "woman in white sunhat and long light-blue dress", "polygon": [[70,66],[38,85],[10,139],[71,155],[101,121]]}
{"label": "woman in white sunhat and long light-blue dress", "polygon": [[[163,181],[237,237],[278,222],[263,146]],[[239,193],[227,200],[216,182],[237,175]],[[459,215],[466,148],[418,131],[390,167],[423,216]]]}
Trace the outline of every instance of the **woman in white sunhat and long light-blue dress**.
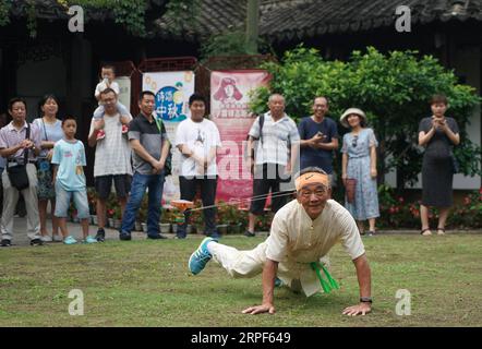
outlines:
{"label": "woman in white sunhat and long light-blue dress", "polygon": [[363,221],[369,220],[369,236],[375,233],[375,219],[379,217],[376,186],[376,147],[378,142],[372,129],[366,128],[366,116],[358,108],[347,109],[340,123],[351,129],[345,134],[341,147],[341,178],[354,179],[354,200],[346,200],[345,207],[357,220],[363,234]]}

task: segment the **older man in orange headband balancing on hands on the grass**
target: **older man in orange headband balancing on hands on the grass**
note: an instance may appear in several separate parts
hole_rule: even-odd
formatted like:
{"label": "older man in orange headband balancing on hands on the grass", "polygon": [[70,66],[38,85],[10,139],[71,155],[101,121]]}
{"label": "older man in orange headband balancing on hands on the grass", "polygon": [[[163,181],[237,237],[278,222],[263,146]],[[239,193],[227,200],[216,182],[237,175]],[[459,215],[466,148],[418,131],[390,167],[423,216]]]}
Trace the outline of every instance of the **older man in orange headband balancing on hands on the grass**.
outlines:
{"label": "older man in orange headband balancing on hands on the grass", "polygon": [[191,273],[198,274],[212,257],[234,278],[263,273],[263,303],[243,313],[273,314],[276,277],[306,297],[316,293],[321,280],[313,262],[326,265],[328,251],[340,241],[354,263],[360,285],[360,303],[345,309],[344,314],[365,315],[371,312],[371,272],[354,219],[344,206],[328,200],[328,174],[320,168],[301,171],[296,186],[297,200],[275,215],[265,242],[251,251],[238,251],[206,238],[191,255]]}

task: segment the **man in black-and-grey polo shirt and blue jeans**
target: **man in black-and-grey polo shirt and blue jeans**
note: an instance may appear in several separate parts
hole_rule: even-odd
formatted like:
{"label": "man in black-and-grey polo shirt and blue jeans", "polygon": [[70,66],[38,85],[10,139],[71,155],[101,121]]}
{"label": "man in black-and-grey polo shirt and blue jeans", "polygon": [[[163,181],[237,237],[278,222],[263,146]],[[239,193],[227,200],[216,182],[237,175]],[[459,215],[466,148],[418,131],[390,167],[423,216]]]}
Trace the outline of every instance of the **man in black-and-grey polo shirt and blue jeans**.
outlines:
{"label": "man in black-and-grey polo shirt and blue jeans", "polygon": [[153,117],[155,95],[144,91],[138,98],[141,113],[129,124],[129,141],[133,152],[134,176],[131,195],[122,217],[121,240],[131,240],[135,217],[148,188],[147,238],[166,239],[159,233],[164,167],[169,154],[169,141],[161,124]]}

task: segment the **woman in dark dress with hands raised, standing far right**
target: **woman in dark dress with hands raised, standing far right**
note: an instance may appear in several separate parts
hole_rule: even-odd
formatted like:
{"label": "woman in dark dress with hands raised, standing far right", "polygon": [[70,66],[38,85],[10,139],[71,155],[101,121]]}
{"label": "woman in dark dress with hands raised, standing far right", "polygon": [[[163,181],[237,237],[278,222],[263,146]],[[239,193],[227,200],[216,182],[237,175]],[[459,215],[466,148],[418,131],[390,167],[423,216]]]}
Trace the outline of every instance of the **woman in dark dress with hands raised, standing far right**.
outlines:
{"label": "woman in dark dress with hands raised, standing far right", "polygon": [[423,236],[432,234],[429,226],[429,207],[439,208],[437,233],[443,234],[448,210],[454,201],[451,146],[460,143],[460,135],[457,122],[445,117],[447,106],[445,96],[434,96],[431,100],[433,116],[422,119],[419,125],[419,145],[425,146],[422,165],[422,205],[420,206]]}

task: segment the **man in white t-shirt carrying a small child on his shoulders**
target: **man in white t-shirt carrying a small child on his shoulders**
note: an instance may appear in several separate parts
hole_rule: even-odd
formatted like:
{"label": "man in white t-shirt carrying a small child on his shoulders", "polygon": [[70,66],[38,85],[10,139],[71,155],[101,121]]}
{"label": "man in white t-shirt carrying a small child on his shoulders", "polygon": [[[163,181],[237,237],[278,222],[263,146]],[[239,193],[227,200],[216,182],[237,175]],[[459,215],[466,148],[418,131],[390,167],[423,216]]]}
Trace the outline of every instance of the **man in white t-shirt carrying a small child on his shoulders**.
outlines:
{"label": "man in white t-shirt carrying a small child on his shoulders", "polygon": [[[117,197],[124,212],[128,195],[131,191],[132,165],[131,146],[126,137],[122,135],[122,125],[132,120],[132,116],[121,116],[117,109],[118,96],[111,88],[100,93],[104,104],[104,125],[92,119],[88,133],[88,145],[96,147],[94,163],[94,180],[97,192],[97,241],[104,241],[106,232],[106,203],[110,195],[112,181],[116,186]],[[98,142],[98,132],[104,131],[107,137]]]}

